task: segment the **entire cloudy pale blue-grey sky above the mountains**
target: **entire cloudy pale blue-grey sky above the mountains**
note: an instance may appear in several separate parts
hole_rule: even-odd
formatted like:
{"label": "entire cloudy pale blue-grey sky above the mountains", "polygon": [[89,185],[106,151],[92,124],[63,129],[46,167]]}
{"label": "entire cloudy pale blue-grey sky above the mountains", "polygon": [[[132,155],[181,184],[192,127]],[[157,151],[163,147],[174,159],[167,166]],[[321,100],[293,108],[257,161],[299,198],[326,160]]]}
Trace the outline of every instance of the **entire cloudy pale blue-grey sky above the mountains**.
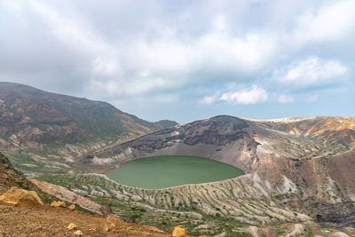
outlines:
{"label": "entire cloudy pale blue-grey sky above the mountains", "polygon": [[354,0],[0,1],[0,81],[148,121],[355,116],[354,68]]}

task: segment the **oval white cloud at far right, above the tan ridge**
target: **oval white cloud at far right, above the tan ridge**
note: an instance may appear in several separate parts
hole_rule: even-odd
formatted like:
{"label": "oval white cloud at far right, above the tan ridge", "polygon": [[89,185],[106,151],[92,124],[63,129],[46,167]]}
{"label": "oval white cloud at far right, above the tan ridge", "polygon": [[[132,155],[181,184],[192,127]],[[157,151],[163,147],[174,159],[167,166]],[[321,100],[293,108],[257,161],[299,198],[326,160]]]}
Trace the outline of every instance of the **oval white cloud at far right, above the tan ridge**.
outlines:
{"label": "oval white cloud at far right, above the tan ridge", "polygon": [[307,88],[333,83],[347,72],[347,67],[335,60],[311,57],[276,70],[273,77],[280,83]]}

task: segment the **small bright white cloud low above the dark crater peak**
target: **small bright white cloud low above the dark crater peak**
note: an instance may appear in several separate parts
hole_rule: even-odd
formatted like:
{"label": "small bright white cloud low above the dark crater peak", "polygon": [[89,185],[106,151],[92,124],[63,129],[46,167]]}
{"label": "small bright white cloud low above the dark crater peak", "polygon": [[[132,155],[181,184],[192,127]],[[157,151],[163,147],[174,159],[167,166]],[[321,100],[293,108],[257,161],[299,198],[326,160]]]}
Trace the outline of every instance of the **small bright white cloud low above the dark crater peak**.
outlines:
{"label": "small bright white cloud low above the dark crater peak", "polygon": [[228,92],[223,94],[219,99],[225,100],[226,102],[232,104],[250,105],[264,102],[268,98],[269,95],[267,91],[256,85],[253,85],[250,90]]}

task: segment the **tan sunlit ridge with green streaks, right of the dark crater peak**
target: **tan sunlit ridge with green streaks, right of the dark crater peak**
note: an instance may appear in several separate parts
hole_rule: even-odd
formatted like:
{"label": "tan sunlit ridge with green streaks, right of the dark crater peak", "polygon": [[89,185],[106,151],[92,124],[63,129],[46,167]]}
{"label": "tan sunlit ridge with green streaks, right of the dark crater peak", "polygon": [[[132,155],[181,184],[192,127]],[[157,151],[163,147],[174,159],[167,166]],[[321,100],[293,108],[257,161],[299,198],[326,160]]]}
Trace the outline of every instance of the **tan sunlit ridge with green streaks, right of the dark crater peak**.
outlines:
{"label": "tan sunlit ridge with green streaks, right of the dark crater peak", "polygon": [[272,152],[307,159],[342,154],[355,143],[355,118],[312,117],[288,122],[257,122],[256,139]]}

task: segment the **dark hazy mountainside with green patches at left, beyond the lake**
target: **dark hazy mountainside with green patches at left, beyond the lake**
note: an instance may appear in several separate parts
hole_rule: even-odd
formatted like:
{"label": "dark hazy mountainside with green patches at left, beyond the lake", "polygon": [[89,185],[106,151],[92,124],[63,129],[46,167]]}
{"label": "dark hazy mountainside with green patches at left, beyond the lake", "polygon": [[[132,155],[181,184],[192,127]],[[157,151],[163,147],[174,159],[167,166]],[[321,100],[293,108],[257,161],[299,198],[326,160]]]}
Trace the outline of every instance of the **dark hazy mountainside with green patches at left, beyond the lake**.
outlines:
{"label": "dark hazy mountainside with green patches at left, beyond the lake", "polygon": [[12,162],[28,174],[66,170],[92,150],[176,124],[146,122],[105,102],[0,83],[0,147],[11,159],[20,157]]}

